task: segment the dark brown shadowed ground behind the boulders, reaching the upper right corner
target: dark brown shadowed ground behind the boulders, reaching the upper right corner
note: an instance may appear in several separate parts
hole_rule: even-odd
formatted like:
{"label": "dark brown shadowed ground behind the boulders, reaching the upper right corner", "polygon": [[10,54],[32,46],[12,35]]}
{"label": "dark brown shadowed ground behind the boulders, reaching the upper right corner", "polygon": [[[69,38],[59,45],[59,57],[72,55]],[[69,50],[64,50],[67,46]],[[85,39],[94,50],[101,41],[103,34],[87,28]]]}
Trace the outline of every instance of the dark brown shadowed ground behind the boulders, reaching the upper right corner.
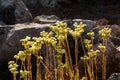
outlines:
{"label": "dark brown shadowed ground behind the boulders, reaching the upper right corner", "polygon": [[[72,3],[59,3],[60,8],[51,9],[45,8],[43,11],[37,11],[39,14],[51,15],[55,14],[62,19],[90,19],[99,20],[101,18],[106,18],[109,24],[120,24],[120,5],[119,1],[114,0],[69,0]],[[33,16],[37,15],[34,12]]]}

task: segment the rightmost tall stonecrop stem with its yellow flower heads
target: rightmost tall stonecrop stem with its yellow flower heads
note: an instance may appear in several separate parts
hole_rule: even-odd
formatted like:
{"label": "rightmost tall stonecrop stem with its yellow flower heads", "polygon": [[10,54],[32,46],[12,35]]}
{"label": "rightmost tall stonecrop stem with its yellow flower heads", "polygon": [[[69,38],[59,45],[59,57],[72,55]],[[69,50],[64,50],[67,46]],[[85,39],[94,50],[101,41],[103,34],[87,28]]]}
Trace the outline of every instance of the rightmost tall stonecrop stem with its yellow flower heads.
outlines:
{"label": "rightmost tall stonecrop stem with its yellow flower heads", "polygon": [[103,28],[99,31],[99,35],[102,38],[102,43],[98,46],[102,54],[102,80],[106,80],[106,66],[107,66],[107,58],[106,58],[106,50],[107,50],[107,40],[111,35],[111,29]]}

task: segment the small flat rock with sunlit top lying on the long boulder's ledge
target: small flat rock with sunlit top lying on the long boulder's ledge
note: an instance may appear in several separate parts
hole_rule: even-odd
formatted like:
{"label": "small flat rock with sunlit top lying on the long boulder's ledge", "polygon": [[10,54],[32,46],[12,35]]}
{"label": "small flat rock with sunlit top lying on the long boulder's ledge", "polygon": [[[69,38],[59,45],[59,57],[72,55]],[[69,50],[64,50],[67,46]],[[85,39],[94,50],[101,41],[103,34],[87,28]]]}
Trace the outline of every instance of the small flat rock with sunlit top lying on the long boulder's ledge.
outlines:
{"label": "small flat rock with sunlit top lying on the long boulder's ledge", "polygon": [[57,21],[60,21],[60,18],[58,18],[55,15],[41,15],[34,18],[33,22],[40,23],[40,24],[49,24],[49,23],[56,23]]}

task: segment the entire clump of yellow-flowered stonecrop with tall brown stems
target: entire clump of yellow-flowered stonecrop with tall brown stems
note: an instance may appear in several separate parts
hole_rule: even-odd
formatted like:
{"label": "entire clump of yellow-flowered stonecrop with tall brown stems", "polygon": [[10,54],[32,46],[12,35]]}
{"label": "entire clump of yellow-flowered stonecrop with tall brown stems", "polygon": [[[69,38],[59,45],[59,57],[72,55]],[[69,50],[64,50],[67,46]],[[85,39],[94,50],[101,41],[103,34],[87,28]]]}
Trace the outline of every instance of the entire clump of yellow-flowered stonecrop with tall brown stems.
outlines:
{"label": "entire clump of yellow-flowered stonecrop with tall brown stems", "polygon": [[[19,75],[19,80],[98,80],[97,78],[97,56],[103,53],[102,60],[106,61],[105,52],[107,46],[107,38],[110,36],[111,30],[104,28],[99,31],[103,40],[96,50],[93,45],[94,32],[88,32],[86,35],[89,39],[82,39],[82,33],[86,24],[83,22],[74,23],[74,29],[68,28],[64,22],[57,21],[55,25],[49,26],[50,32],[40,32],[40,37],[29,37],[21,39],[24,50],[21,50],[14,56],[16,61],[10,61],[9,69],[13,74],[13,80]],[[71,35],[75,41],[74,45],[69,45],[68,35]],[[84,56],[80,58],[84,65],[79,65],[78,59],[78,41],[84,51]],[[83,40],[83,41],[82,41]],[[72,63],[72,56],[69,46],[74,46],[75,66]],[[86,49],[84,49],[86,48]],[[41,54],[45,56],[42,57]],[[36,58],[36,76],[33,78],[32,55]],[[64,63],[63,63],[64,60]],[[21,64],[18,66],[18,62]],[[43,65],[44,67],[41,67]],[[81,77],[78,66],[84,66],[85,75]],[[106,62],[102,66],[102,79],[106,78]],[[19,70],[18,70],[19,68]],[[44,69],[43,69],[44,68]]]}

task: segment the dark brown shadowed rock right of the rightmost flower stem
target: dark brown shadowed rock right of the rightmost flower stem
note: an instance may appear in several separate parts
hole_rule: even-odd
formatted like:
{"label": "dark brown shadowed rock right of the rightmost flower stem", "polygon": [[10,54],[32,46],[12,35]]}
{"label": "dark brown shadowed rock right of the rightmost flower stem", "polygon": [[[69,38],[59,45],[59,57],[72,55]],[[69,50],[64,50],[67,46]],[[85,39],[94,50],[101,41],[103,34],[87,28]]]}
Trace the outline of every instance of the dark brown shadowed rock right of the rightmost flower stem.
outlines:
{"label": "dark brown shadowed rock right of the rightmost flower stem", "polygon": [[120,72],[120,51],[109,41],[107,46],[107,77],[112,73]]}

